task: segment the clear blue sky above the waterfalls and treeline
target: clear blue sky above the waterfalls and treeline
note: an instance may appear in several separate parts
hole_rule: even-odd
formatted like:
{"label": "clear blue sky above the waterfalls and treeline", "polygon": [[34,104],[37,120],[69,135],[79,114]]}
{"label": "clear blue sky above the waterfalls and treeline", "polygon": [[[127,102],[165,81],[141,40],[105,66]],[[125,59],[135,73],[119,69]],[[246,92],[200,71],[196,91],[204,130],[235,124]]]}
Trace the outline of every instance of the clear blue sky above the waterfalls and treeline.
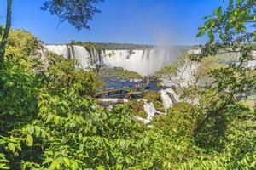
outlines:
{"label": "clear blue sky above the waterfalls and treeline", "polygon": [[[0,0],[4,23],[6,0]],[[222,5],[221,0],[105,0],[101,14],[90,22],[91,30],[77,31],[67,22],[57,28],[58,18],[40,10],[44,0],[13,0],[13,28],[31,31],[45,43],[70,40],[133,42],[141,44],[192,45],[202,18]]]}

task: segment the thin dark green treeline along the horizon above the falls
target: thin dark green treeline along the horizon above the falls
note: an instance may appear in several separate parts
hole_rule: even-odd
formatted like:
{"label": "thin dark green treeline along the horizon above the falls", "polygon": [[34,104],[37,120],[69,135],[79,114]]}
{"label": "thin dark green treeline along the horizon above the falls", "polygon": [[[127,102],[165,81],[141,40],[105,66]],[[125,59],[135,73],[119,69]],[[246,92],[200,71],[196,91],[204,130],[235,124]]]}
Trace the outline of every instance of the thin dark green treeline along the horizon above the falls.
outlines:
{"label": "thin dark green treeline along the horizon above the falls", "polygon": [[[69,45],[80,45],[85,48],[99,48],[99,49],[108,49],[108,50],[118,50],[118,49],[150,49],[155,48],[154,45],[147,44],[134,44],[134,43],[113,43],[113,42],[80,42],[80,41],[71,41]],[[192,49],[198,48],[199,46],[175,46],[182,49]]]}

